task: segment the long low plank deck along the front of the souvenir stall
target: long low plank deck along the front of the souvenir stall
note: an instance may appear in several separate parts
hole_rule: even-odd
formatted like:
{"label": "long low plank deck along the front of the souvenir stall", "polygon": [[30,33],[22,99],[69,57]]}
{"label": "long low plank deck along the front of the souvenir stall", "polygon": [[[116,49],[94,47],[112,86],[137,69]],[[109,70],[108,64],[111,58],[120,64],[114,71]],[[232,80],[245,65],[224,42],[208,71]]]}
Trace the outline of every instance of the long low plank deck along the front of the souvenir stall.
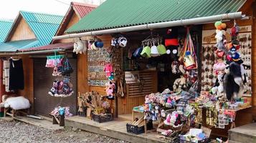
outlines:
{"label": "long low plank deck along the front of the souvenir stall", "polygon": [[156,132],[146,134],[130,134],[126,130],[127,121],[115,119],[110,122],[98,123],[85,117],[69,117],[65,119],[65,127],[75,127],[88,132],[102,134],[131,143],[164,143],[166,140]]}

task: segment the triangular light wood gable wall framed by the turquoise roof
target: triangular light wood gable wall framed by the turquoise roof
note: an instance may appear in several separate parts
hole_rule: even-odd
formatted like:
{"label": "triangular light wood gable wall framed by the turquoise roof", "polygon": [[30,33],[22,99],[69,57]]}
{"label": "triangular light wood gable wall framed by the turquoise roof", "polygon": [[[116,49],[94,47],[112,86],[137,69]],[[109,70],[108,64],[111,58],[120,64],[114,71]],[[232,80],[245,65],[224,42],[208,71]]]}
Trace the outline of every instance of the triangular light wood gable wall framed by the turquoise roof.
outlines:
{"label": "triangular light wood gable wall framed by the turquoise roof", "polygon": [[27,22],[22,18],[19,24],[14,29],[13,35],[11,35],[10,41],[36,39],[34,32],[29,28]]}

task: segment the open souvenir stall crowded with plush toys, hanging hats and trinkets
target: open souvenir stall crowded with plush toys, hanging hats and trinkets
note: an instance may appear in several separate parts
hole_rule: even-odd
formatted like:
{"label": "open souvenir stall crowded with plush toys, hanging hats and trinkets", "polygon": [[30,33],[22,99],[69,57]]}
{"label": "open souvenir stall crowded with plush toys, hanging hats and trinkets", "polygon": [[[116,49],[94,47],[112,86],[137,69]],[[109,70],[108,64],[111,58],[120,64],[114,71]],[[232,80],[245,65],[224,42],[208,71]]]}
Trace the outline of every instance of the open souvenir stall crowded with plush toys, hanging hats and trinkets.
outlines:
{"label": "open souvenir stall crowded with plush toys, hanging hats and trinkets", "polygon": [[120,100],[143,97],[141,106],[131,107],[130,133],[155,131],[172,142],[197,142],[208,140],[211,129],[234,127],[236,113],[250,107],[242,97],[250,80],[243,69],[245,57],[238,52],[239,26],[234,23],[229,31],[222,21],[215,26],[217,44],[211,49],[199,48],[202,36],[197,26],[143,31],[139,36],[117,34],[109,48],[97,37],[83,41],[88,84],[105,90],[80,94],[79,114],[111,121],[113,109],[125,107]]}

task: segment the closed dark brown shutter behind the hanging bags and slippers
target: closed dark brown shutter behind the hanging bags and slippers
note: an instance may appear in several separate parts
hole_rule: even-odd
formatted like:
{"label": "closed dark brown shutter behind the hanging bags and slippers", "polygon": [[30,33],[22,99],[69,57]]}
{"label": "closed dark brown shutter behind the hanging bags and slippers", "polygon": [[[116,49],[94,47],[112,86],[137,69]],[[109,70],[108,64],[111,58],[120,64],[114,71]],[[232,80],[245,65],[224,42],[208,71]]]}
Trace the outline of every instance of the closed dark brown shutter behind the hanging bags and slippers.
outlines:
{"label": "closed dark brown shutter behind the hanging bags and slippers", "polygon": [[72,114],[77,114],[77,60],[69,59],[74,72],[70,74],[74,94],[70,97],[52,97],[48,94],[56,77],[52,76],[52,68],[46,68],[46,59],[34,59],[34,112],[49,116],[54,107],[70,107]]}

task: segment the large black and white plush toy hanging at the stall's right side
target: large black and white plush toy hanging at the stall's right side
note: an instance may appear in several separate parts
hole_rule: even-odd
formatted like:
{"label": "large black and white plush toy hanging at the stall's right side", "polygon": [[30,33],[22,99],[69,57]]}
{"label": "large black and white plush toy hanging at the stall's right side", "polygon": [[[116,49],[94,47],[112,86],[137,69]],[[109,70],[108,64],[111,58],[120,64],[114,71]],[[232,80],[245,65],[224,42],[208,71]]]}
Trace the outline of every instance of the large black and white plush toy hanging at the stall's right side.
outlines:
{"label": "large black and white plush toy hanging at the stall's right side", "polygon": [[239,99],[242,97],[244,90],[240,64],[231,62],[225,73],[224,92],[226,93],[227,99],[230,100],[232,97]]}

